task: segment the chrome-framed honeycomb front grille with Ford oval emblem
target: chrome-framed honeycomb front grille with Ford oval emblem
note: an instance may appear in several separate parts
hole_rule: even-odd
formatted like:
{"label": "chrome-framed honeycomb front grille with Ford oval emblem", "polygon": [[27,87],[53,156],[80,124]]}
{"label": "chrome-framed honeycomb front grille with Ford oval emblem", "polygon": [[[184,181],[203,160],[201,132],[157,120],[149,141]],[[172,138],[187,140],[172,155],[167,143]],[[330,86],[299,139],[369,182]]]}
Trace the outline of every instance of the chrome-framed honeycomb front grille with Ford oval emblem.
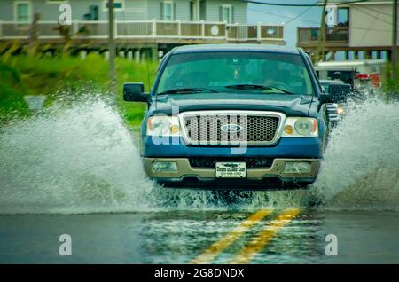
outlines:
{"label": "chrome-framed honeycomb front grille with Ford oval emblem", "polygon": [[284,114],[248,113],[184,113],[185,137],[191,145],[271,145],[277,141]]}

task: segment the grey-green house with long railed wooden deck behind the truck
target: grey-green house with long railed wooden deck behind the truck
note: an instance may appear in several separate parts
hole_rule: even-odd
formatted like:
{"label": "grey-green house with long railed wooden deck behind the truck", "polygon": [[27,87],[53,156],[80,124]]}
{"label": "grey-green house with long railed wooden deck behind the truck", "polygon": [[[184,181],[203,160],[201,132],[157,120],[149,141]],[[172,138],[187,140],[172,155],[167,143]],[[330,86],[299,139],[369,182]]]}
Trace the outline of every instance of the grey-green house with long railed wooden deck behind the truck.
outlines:
{"label": "grey-green house with long railed wooden deck behind the truck", "polygon": [[[72,7],[68,27],[74,43],[106,48],[107,0],[1,0],[0,42],[29,42],[35,14],[38,42],[62,44],[59,5]],[[247,7],[240,0],[114,0],[118,51],[159,50],[187,43],[285,44],[281,25],[248,25]],[[84,31],[84,32],[82,32]]]}

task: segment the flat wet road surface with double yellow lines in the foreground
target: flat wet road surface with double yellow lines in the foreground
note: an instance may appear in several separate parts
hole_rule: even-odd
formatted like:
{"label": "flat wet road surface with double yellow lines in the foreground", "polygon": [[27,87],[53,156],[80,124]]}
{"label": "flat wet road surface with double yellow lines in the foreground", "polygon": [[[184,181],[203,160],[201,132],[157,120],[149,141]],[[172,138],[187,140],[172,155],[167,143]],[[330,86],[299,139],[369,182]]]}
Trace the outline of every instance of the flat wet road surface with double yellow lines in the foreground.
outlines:
{"label": "flat wet road surface with double yellow lines in the foreground", "polygon": [[[72,255],[59,255],[59,236]],[[325,236],[338,255],[325,255]],[[398,263],[396,212],[1,215],[1,263]]]}

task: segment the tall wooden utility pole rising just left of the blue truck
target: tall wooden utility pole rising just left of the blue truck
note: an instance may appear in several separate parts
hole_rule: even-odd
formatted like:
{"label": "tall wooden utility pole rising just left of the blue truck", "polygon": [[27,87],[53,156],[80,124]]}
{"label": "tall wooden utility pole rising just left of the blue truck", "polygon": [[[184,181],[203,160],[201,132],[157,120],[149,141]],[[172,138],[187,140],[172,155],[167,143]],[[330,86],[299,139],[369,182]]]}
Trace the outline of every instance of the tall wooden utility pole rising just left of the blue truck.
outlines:
{"label": "tall wooden utility pole rising just left of the blue truck", "polygon": [[115,78],[115,38],[114,38],[114,14],[113,0],[108,0],[108,51],[109,51],[109,90],[115,94],[116,78]]}

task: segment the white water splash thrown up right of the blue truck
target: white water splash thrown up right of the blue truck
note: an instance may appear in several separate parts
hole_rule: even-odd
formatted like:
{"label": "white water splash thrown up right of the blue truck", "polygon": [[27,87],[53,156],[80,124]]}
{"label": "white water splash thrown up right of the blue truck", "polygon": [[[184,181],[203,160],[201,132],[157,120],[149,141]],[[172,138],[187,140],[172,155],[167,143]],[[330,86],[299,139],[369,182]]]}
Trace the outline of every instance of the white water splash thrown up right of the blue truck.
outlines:
{"label": "white water splash thrown up right of the blue truck", "polygon": [[349,101],[311,191],[329,209],[399,209],[399,103]]}

